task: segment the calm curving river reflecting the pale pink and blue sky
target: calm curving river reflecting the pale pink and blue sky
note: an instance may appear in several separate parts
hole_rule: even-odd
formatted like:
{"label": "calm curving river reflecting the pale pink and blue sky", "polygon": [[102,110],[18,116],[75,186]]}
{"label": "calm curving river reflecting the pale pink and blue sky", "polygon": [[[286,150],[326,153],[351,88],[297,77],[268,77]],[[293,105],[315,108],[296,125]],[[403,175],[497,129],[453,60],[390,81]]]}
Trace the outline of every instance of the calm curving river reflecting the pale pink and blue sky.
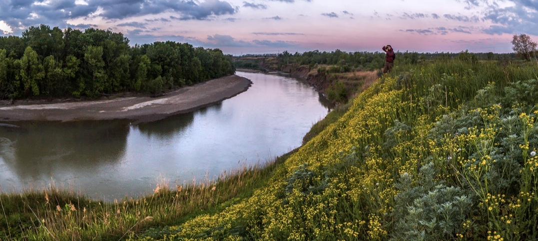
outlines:
{"label": "calm curving river reflecting the pale pink and blue sky", "polygon": [[214,180],[301,145],[331,105],[308,83],[237,72],[246,92],[164,120],[10,122],[0,126],[0,192],[68,189],[112,201]]}

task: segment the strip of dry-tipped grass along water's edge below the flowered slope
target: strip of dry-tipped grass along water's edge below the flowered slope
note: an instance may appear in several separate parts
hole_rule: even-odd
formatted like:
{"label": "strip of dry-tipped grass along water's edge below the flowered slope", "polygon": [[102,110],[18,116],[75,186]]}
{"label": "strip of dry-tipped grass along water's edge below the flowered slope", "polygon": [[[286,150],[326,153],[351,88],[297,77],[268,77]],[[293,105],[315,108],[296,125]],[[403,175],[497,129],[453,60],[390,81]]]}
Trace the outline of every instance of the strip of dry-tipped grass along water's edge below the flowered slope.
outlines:
{"label": "strip of dry-tipped grass along water's edge below the flowered slope", "polygon": [[[294,151],[291,151],[293,153]],[[0,194],[0,240],[119,240],[150,228],[215,213],[252,195],[289,154],[267,166],[245,167],[214,182],[158,185],[154,194],[113,203],[89,200],[54,187]]]}

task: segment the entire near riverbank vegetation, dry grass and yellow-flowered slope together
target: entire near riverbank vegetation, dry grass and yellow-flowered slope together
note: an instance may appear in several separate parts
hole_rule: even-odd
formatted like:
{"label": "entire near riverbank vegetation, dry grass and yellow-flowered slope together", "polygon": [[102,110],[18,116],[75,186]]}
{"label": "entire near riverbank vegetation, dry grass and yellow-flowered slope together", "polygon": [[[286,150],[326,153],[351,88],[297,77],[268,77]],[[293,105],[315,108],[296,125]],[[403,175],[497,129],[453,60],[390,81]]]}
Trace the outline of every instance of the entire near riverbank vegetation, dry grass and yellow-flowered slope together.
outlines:
{"label": "entire near riverbank vegetation, dry grass and yellow-flowered slope together", "polygon": [[114,203],[1,194],[14,239],[538,238],[538,63],[397,62],[302,147]]}

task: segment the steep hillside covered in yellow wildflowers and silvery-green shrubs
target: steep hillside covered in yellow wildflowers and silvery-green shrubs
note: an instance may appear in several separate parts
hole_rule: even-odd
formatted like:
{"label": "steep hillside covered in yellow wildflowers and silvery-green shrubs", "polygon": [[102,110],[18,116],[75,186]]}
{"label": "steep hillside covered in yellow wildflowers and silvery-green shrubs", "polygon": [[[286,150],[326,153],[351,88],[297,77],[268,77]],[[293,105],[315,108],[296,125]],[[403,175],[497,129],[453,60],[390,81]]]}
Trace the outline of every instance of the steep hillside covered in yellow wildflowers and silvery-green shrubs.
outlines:
{"label": "steep hillside covered in yellow wildflowers and silvery-green shrubs", "polygon": [[536,239],[537,67],[399,66],[250,198],[163,238]]}

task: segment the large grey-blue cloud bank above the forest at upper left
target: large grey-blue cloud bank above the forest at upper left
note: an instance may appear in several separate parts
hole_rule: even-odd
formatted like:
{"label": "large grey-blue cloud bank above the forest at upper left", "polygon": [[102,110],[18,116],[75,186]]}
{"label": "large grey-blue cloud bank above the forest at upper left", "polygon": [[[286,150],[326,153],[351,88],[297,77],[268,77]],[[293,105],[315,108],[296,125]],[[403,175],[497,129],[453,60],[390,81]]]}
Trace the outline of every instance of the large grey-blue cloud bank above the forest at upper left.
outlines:
{"label": "large grey-blue cloud bank above the forest at upper left", "polygon": [[67,27],[67,21],[78,18],[117,20],[172,12],[180,20],[207,20],[238,10],[221,0],[0,0],[2,20],[16,31],[39,24]]}

